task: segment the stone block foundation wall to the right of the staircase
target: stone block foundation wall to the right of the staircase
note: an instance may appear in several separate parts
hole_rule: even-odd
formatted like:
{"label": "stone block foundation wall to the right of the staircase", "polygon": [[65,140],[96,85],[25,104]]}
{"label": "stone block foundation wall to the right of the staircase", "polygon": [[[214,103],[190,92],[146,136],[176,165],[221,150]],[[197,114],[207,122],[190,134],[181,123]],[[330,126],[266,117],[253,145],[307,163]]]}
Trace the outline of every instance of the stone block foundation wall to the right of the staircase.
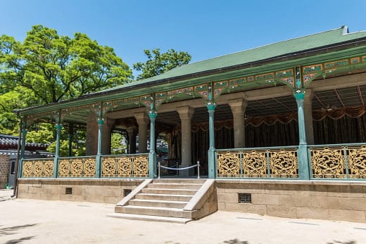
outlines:
{"label": "stone block foundation wall to the right of the staircase", "polygon": [[[216,180],[218,209],[275,217],[366,222],[366,182]],[[251,203],[238,203],[251,193]]]}

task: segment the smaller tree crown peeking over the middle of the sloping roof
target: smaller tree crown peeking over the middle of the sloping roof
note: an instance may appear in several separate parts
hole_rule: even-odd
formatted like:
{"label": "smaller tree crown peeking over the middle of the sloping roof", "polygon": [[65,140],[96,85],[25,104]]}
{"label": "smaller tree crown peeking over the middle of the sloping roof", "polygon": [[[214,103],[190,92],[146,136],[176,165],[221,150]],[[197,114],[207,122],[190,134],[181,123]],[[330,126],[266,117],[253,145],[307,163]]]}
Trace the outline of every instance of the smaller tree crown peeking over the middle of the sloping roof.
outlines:
{"label": "smaller tree crown peeking over the middle of the sloping roof", "polygon": [[175,51],[169,49],[166,53],[160,53],[160,49],[144,50],[148,60],[146,63],[134,63],[134,70],[140,71],[141,74],[137,79],[146,79],[156,75],[163,74],[172,68],[181,65],[187,65],[191,60],[191,55],[184,51]]}

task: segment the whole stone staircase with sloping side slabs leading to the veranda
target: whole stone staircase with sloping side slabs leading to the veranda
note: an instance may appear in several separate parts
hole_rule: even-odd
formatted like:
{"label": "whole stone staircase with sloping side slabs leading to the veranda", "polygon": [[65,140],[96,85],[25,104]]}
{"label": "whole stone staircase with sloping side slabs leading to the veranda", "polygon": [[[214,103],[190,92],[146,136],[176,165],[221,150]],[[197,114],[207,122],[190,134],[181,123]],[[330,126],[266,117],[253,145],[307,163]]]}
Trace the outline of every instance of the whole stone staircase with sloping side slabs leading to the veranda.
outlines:
{"label": "whole stone staircase with sloping side slabs leading to the veranda", "polygon": [[109,217],[185,224],[217,210],[211,179],[146,179]]}

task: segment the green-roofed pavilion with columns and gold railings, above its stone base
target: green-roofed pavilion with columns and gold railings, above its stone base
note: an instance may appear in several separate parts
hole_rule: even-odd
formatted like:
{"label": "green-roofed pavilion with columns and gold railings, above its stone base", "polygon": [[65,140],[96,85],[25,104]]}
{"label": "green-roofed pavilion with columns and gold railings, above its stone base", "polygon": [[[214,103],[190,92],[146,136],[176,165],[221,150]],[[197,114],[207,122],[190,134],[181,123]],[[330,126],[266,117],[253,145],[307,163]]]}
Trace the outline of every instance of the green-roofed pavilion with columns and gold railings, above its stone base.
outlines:
{"label": "green-roofed pavilion with columns and gold railings, above its stone base", "polygon": [[[210,179],[365,180],[365,70],[366,33],[341,27],[19,110],[22,152],[37,122],[56,125],[57,146],[55,158],[22,159],[18,176],[155,178],[163,133],[170,162],[200,161]],[[61,128],[74,124],[87,128],[87,155],[59,157]],[[128,154],[111,155],[115,128]]]}

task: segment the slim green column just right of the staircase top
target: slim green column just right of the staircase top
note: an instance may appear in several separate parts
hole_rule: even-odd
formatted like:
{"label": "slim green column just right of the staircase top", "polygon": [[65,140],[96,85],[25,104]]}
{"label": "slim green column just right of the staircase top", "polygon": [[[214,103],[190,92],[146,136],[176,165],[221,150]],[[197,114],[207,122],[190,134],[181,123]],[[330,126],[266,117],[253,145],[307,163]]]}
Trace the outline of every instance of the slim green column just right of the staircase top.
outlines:
{"label": "slim green column just right of the staircase top", "polygon": [[208,134],[210,136],[210,147],[208,148],[208,178],[215,179],[216,177],[216,163],[215,163],[215,120],[214,113],[216,105],[215,103],[207,103],[208,108]]}

